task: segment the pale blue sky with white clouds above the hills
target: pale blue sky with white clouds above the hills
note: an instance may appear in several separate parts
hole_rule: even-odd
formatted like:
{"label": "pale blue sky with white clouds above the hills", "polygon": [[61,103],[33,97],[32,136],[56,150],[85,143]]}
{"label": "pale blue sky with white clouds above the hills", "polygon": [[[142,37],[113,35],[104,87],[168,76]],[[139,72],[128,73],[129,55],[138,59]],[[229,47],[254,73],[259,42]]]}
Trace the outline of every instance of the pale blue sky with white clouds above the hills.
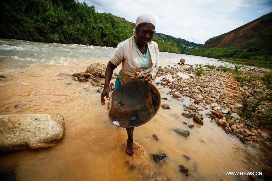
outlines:
{"label": "pale blue sky with white clouds above the hills", "polygon": [[[79,0],[83,2],[83,0]],[[156,32],[204,44],[264,14],[272,0],[85,0],[96,12],[108,12],[135,23],[141,13],[156,18]],[[133,31],[131,30],[131,35]]]}

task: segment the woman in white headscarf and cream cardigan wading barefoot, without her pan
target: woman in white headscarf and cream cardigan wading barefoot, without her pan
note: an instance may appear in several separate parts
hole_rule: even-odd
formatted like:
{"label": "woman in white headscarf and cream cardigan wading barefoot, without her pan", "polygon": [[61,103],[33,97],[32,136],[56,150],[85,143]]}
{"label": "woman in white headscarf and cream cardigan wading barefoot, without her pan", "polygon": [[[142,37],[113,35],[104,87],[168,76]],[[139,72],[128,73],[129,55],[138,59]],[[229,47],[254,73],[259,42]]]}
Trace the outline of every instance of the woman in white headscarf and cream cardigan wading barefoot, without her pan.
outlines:
{"label": "woman in white headscarf and cream cardigan wading barefoot, without her pan", "polygon": [[[114,89],[135,79],[152,82],[151,79],[155,77],[159,68],[158,45],[151,41],[155,33],[155,26],[156,21],[153,15],[140,14],[136,20],[134,35],[118,44],[106,68],[105,85],[101,94],[102,105],[105,105],[105,96],[109,99],[109,83],[112,73],[120,63],[122,63],[122,68],[117,75]],[[134,155],[134,128],[126,128],[126,130],[128,133],[126,152]]]}

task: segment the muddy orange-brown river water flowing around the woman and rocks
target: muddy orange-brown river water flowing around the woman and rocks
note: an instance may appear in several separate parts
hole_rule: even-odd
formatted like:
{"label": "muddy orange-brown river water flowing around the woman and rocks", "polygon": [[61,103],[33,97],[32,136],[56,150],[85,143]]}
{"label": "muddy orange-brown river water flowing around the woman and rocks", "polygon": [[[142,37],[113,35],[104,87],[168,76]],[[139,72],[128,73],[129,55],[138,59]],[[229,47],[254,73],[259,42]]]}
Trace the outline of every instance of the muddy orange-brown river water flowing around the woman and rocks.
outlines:
{"label": "muddy orange-brown river water flowing around the woman and rocks", "polygon": [[[58,113],[65,121],[65,137],[52,148],[0,157],[0,169],[14,170],[18,180],[247,180],[247,176],[226,176],[225,172],[259,172],[267,167],[257,146],[242,144],[205,116],[204,125],[181,116],[183,104],[193,100],[175,100],[167,94],[170,89],[162,86],[157,88],[167,100],[161,100],[161,104],[169,104],[170,110],[160,108],[151,121],[134,129],[134,141],[148,156],[129,157],[124,151],[126,130],[108,118],[97,93],[101,87],[57,76],[85,71],[92,62],[106,64],[113,48],[3,39],[0,43],[0,75],[7,77],[0,82],[0,113]],[[160,52],[160,65],[174,66],[177,57],[186,57],[185,63],[191,64],[218,63],[215,59]],[[114,72],[118,70],[120,66]],[[15,108],[17,104],[23,106]],[[195,127],[189,129],[183,122]],[[190,135],[185,138],[173,129],[187,129]],[[160,152],[168,156],[157,164],[151,154]],[[179,171],[181,164],[188,167],[188,177]]]}

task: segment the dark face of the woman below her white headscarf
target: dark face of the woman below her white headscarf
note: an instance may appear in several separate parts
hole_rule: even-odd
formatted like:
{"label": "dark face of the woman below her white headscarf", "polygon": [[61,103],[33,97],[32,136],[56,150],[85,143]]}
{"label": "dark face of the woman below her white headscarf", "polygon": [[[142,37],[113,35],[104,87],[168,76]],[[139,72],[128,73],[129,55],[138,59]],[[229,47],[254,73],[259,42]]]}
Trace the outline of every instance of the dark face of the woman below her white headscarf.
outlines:
{"label": "dark face of the woman below her white headscarf", "polygon": [[135,40],[136,43],[140,43],[143,46],[146,46],[148,42],[153,38],[155,33],[155,27],[151,23],[146,23],[145,25],[141,26],[139,30],[136,32],[137,39]]}

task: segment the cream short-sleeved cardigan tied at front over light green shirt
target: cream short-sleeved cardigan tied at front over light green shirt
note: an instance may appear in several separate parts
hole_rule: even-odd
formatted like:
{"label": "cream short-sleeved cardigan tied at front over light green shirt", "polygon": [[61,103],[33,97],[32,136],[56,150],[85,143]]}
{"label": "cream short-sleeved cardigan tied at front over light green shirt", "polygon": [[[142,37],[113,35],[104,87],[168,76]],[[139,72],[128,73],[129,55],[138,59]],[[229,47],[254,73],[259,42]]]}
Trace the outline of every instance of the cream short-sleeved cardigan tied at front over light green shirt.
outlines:
{"label": "cream short-sleeved cardigan tied at front over light green shirt", "polygon": [[145,77],[148,74],[151,74],[152,77],[155,77],[159,69],[158,44],[154,41],[152,41],[152,43],[147,43],[152,62],[150,68],[141,71],[138,61],[137,49],[133,38],[134,37],[128,38],[127,40],[119,43],[112,53],[110,61],[116,66],[122,63],[122,71],[129,75],[132,79]]}

